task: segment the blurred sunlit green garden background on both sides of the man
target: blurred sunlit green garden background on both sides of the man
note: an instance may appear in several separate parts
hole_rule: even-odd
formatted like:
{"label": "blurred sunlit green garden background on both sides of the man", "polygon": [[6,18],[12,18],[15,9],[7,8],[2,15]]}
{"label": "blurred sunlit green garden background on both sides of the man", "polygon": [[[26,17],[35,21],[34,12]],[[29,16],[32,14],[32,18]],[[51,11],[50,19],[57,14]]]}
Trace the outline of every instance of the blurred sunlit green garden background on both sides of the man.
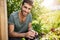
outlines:
{"label": "blurred sunlit green garden background on both sides of the man", "polygon": [[[23,0],[7,0],[8,18],[20,10]],[[32,27],[40,40],[60,40],[60,0],[34,0]],[[24,40],[24,39],[23,39]]]}

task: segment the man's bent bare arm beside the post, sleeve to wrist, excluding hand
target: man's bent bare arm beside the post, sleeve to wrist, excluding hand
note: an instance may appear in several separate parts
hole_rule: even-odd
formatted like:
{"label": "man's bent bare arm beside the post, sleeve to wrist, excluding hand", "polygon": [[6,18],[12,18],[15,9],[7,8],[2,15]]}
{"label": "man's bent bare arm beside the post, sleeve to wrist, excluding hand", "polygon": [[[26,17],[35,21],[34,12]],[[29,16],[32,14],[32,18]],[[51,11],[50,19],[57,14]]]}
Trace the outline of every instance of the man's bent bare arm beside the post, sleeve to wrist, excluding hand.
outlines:
{"label": "man's bent bare arm beside the post, sleeve to wrist, excluding hand", "polygon": [[17,33],[17,32],[14,32],[14,25],[13,24],[10,24],[9,25],[9,36],[10,37],[25,37],[26,36],[26,33]]}

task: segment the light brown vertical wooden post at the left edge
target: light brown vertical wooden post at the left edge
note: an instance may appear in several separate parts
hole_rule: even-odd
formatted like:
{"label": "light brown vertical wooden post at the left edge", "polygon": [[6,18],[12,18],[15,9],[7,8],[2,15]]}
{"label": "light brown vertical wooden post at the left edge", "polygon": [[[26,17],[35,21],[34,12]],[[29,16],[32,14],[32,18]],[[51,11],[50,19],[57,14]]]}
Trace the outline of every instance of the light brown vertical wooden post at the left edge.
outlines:
{"label": "light brown vertical wooden post at the left edge", "polygon": [[7,1],[0,0],[0,40],[8,40]]}

